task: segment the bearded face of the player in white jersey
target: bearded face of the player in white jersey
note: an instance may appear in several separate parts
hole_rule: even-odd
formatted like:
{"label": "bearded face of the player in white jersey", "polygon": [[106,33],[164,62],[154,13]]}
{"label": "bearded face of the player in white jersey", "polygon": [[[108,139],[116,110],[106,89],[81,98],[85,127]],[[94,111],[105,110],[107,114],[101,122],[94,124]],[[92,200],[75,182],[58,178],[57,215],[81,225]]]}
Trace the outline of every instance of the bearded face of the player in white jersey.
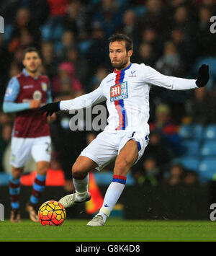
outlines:
{"label": "bearded face of the player in white jersey", "polygon": [[109,45],[109,58],[114,69],[125,69],[130,62],[132,50],[127,52],[125,42],[113,42]]}

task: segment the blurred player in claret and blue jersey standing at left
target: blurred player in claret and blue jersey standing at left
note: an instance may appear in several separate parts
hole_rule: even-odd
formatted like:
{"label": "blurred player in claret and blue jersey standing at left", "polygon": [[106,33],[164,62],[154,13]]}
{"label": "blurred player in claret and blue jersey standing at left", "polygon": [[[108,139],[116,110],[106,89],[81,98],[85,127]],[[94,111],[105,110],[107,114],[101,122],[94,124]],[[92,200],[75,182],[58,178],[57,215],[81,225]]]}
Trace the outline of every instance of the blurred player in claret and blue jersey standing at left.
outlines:
{"label": "blurred player in claret and blue jersey standing at left", "polygon": [[45,189],[45,180],[50,165],[50,128],[48,118],[37,109],[51,102],[50,81],[40,74],[42,59],[36,48],[24,50],[22,73],[12,77],[4,95],[3,110],[16,115],[12,133],[12,153],[9,178],[12,222],[20,221],[19,193],[20,179],[24,165],[32,154],[37,163],[37,175],[32,186],[32,195],[26,210],[32,221],[38,221],[36,206]]}

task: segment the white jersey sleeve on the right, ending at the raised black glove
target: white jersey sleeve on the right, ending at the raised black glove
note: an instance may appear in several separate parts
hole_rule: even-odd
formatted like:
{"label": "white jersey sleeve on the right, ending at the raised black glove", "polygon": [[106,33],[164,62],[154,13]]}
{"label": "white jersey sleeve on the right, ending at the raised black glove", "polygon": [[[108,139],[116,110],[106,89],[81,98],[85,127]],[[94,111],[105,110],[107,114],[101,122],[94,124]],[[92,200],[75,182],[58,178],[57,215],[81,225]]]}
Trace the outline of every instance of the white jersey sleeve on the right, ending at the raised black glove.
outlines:
{"label": "white jersey sleeve on the right, ending at the raised black glove", "polygon": [[175,76],[166,76],[150,66],[143,65],[143,79],[147,84],[153,84],[171,90],[198,88],[195,79],[184,79]]}

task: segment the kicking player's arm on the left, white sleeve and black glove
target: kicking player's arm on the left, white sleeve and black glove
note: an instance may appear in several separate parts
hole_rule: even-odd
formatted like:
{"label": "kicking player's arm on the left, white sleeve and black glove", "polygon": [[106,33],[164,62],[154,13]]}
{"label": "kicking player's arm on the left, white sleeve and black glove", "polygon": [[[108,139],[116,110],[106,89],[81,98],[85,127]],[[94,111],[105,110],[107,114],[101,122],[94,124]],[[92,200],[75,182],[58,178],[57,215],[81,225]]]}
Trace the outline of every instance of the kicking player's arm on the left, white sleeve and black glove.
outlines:
{"label": "kicking player's arm on the left, white sleeve and black glove", "polygon": [[76,97],[73,100],[62,100],[60,102],[53,102],[40,107],[40,112],[47,113],[47,116],[53,115],[53,112],[60,110],[79,110],[84,107],[90,107],[106,100],[102,93],[102,88],[99,87],[93,92]]}

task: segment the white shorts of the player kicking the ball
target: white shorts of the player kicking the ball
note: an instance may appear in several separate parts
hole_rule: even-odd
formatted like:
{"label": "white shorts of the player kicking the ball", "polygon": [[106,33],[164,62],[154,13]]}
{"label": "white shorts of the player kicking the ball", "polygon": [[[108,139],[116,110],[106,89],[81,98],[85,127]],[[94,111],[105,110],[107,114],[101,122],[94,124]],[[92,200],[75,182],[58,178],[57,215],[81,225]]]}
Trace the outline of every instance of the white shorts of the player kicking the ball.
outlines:
{"label": "white shorts of the player kicking the ball", "polygon": [[148,145],[149,141],[148,135],[140,136],[138,132],[110,133],[103,131],[81,151],[80,156],[89,157],[98,164],[96,169],[101,171],[107,164],[116,159],[117,155],[120,154],[120,150],[125,146],[127,141],[131,139],[138,143],[138,159],[134,163],[136,164],[140,157],[143,156],[145,147]]}

